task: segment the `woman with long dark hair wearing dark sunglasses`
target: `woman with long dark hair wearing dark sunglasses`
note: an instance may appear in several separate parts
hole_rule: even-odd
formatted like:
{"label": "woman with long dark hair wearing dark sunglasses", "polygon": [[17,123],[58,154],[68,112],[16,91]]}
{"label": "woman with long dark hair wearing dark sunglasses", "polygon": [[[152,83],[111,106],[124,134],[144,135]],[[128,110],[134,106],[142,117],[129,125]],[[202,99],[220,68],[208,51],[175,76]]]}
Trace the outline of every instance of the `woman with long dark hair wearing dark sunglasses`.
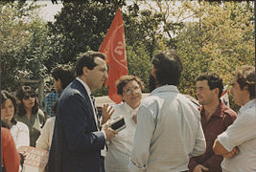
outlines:
{"label": "woman with long dark hair wearing dark sunglasses", "polygon": [[16,97],[20,100],[18,104],[17,120],[25,123],[30,130],[30,145],[35,147],[35,141],[40,135],[45,123],[45,116],[39,109],[35,90],[29,86],[22,86]]}

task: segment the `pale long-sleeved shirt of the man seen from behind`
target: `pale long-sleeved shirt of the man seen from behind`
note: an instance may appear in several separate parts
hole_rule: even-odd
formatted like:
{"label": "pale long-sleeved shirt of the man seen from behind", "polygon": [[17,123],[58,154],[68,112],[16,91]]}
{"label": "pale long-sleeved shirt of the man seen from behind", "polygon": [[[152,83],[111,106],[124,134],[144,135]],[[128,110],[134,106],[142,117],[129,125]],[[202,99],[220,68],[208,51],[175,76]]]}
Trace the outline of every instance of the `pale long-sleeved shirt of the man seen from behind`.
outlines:
{"label": "pale long-sleeved shirt of the man seen from behind", "polygon": [[165,85],[142,100],[128,167],[132,172],[185,171],[190,158],[205,148],[198,107],[174,85]]}

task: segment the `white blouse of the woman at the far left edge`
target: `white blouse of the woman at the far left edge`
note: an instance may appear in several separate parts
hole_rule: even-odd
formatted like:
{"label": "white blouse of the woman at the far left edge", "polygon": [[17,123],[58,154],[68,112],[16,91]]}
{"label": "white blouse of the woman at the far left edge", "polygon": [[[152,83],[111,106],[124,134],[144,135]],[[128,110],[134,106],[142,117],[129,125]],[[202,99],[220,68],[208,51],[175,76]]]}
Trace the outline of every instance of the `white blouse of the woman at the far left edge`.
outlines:
{"label": "white blouse of the woman at the far left edge", "polygon": [[30,146],[30,131],[25,123],[17,121],[15,125],[12,125],[10,131],[16,148]]}

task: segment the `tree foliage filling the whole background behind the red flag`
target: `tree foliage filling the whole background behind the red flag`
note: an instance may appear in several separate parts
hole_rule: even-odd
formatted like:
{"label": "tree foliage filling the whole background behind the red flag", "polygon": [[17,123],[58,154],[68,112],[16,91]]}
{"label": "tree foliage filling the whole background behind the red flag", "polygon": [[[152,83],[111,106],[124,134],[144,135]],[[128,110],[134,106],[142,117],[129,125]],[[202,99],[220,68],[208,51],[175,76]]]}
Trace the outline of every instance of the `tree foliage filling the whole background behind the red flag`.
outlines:
{"label": "tree foliage filling the whole background behind the red flag", "polygon": [[[35,6],[22,2],[1,5],[2,88],[13,90],[21,76],[45,77],[57,64],[75,64],[79,53],[98,51],[118,8],[128,73],[146,85],[151,56],[171,48],[184,65],[179,89],[193,97],[199,74],[216,72],[228,84],[236,67],[254,64],[254,2],[62,0],[56,20],[47,24],[32,12]],[[107,89],[96,95],[107,95]]]}

